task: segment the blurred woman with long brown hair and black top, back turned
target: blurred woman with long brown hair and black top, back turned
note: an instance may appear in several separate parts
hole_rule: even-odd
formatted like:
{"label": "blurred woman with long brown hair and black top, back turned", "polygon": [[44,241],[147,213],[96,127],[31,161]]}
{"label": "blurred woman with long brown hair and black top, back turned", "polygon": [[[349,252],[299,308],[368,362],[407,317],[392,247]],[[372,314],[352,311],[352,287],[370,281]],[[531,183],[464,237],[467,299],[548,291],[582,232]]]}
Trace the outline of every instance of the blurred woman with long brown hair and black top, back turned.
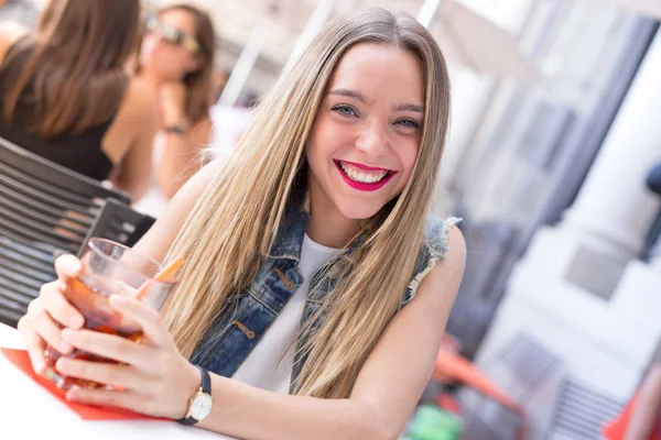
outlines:
{"label": "blurred woman with long brown hair and black top, back turned", "polygon": [[34,33],[0,26],[0,136],[140,198],[151,182],[155,96],[129,77],[138,0],[52,0]]}

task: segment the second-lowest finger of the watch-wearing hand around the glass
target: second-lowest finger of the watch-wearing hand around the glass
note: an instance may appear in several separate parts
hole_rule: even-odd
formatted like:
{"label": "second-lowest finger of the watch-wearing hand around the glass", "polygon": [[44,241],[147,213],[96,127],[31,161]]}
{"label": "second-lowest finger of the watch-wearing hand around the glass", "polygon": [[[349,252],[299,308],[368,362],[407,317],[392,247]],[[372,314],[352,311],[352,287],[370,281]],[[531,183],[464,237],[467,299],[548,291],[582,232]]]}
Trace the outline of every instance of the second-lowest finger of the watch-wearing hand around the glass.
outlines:
{"label": "second-lowest finger of the watch-wearing hand around the glass", "polygon": [[89,362],[69,358],[61,358],[55,369],[66,376],[83,378],[97,384],[122,386],[129,389],[144,387],[145,377],[130,365]]}

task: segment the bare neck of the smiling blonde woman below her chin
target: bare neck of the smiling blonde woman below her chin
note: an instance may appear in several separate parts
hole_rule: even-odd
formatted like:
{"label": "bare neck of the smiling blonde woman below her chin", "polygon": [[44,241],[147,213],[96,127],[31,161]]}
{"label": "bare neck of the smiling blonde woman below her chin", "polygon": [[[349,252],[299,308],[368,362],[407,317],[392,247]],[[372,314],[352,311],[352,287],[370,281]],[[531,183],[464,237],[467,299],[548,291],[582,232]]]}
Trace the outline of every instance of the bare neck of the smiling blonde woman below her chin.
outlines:
{"label": "bare neck of the smiling blonde woman below her chin", "polygon": [[310,221],[305,232],[328,248],[344,248],[360,230],[360,221],[343,215],[321,188],[308,185]]}

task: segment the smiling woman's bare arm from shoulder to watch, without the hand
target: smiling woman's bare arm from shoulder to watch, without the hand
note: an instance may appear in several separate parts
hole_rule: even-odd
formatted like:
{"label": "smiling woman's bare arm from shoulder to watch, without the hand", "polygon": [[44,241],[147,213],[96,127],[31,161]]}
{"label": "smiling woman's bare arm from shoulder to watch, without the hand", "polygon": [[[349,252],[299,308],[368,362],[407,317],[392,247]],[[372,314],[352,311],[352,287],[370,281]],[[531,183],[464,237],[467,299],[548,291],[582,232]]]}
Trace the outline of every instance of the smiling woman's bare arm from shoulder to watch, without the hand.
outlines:
{"label": "smiling woman's bare arm from shoulder to watch, without the hand", "polygon": [[448,249],[388,326],[350,398],[280,395],[213,375],[214,409],[199,426],[249,440],[397,439],[431,377],[464,273],[465,243],[456,228]]}

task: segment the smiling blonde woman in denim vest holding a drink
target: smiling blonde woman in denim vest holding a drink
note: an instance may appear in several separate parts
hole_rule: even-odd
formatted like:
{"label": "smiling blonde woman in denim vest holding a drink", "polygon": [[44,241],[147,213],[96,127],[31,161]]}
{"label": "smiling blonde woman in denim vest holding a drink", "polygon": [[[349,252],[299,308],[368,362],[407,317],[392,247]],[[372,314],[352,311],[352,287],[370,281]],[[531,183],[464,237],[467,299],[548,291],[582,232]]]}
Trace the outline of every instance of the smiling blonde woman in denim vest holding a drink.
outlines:
{"label": "smiling blonde woman in denim vest holding a drink", "polygon": [[33,365],[46,342],[115,359],[58,361],[123,387],[68,398],[243,439],[397,438],[464,270],[456,219],[427,217],[448,110],[441,51],[410,15],[330,23],[229,161],[187,183],[137,245],[186,258],[164,317],[111,297],[148,342],[83,329],[62,295],[80,266],[66,256],[19,326]]}

